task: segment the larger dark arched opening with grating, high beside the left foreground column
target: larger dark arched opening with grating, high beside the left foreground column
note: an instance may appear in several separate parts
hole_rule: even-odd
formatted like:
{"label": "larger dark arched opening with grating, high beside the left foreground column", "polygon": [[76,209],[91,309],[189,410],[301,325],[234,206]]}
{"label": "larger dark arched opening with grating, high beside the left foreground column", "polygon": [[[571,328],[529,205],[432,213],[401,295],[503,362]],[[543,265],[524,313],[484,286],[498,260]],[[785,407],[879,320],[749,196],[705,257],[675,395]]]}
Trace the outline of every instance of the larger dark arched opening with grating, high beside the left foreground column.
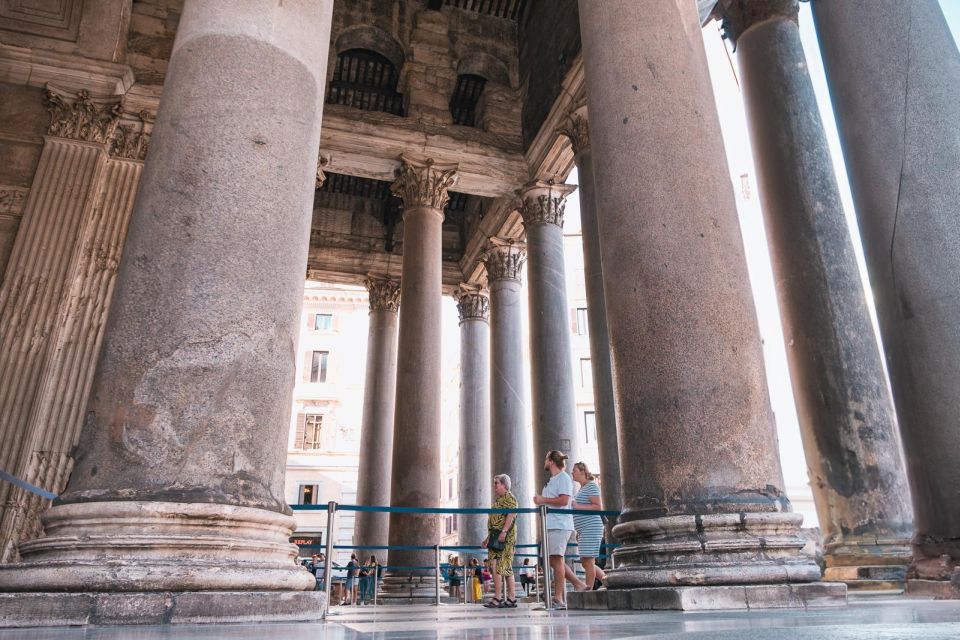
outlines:
{"label": "larger dark arched opening with grating, high beside the left foreground column", "polygon": [[337,56],[327,104],[403,115],[400,73],[386,56],[369,49],[348,49]]}

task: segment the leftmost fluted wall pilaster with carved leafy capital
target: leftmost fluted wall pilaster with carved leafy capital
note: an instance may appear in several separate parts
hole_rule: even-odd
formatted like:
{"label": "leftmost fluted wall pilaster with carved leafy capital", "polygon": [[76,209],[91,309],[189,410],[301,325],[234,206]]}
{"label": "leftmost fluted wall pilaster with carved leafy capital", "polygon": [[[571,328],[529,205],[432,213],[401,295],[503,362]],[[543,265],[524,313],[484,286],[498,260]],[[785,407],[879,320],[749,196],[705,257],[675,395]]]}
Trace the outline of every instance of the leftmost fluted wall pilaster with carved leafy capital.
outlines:
{"label": "leftmost fluted wall pilaster with carved leafy capital", "polygon": [[[47,91],[45,102],[50,127],[0,288],[0,469],[59,492],[70,471],[62,454],[73,446],[75,438],[69,433],[77,425],[31,419],[31,413],[50,409],[38,402],[61,401],[73,391],[61,395],[57,386],[62,382],[69,387],[76,369],[61,370],[59,375],[51,370],[57,368],[63,341],[71,339],[77,313],[81,321],[84,318],[71,305],[107,300],[84,290],[83,267],[78,263],[91,257],[89,244],[98,227],[94,211],[120,107],[117,97],[95,98],[87,92],[68,96],[53,89]],[[70,327],[58,322],[68,319]],[[82,369],[94,360],[91,354],[71,366]],[[67,379],[60,378],[64,373]],[[86,389],[81,394],[83,405]],[[45,443],[49,437],[55,442]],[[60,438],[64,440],[58,442]],[[36,529],[45,502],[0,483],[0,560],[15,557],[16,544],[25,529]]]}

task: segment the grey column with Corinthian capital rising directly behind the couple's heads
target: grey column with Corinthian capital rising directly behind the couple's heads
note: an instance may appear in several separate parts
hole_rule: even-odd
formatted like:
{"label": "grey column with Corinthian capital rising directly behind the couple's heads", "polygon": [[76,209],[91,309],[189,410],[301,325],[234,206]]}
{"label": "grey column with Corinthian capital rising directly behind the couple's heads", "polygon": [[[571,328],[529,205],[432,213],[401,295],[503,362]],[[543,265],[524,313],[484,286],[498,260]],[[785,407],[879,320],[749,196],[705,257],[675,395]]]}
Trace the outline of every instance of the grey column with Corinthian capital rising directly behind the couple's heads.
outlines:
{"label": "grey column with Corinthian capital rising directly behind the couple's heads", "polygon": [[[563,210],[576,186],[536,180],[520,191],[520,215],[527,236],[530,301],[530,382],[533,396],[533,456],[551,449],[579,460],[573,369],[570,364],[570,309],[563,261]],[[543,477],[539,464],[536,477]],[[544,480],[546,478],[544,477]]]}

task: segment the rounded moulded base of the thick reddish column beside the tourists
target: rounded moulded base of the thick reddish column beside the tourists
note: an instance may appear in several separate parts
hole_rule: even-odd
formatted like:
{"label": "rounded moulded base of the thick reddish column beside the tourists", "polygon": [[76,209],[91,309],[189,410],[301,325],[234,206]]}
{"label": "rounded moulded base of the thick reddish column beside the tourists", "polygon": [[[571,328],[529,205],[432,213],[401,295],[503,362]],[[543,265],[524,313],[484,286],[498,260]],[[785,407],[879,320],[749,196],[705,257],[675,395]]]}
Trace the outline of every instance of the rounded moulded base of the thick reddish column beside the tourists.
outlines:
{"label": "rounded moulded base of the thick reddish column beside the tourists", "polygon": [[802,555],[803,516],[723,513],[669,516],[618,524],[622,546],[610,589],[816,582],[820,567]]}

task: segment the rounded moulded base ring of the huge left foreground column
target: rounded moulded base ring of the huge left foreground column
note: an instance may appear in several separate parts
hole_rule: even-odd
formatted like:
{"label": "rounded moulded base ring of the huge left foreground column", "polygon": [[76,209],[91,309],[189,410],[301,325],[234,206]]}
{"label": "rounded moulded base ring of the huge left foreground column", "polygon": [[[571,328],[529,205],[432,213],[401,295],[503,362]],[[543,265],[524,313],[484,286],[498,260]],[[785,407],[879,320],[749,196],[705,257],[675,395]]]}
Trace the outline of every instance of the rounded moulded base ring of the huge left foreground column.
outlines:
{"label": "rounded moulded base ring of the huge left foreground column", "polygon": [[47,535],[0,566],[0,591],[306,591],[292,516],[223,504],[83,502],[43,516]]}

